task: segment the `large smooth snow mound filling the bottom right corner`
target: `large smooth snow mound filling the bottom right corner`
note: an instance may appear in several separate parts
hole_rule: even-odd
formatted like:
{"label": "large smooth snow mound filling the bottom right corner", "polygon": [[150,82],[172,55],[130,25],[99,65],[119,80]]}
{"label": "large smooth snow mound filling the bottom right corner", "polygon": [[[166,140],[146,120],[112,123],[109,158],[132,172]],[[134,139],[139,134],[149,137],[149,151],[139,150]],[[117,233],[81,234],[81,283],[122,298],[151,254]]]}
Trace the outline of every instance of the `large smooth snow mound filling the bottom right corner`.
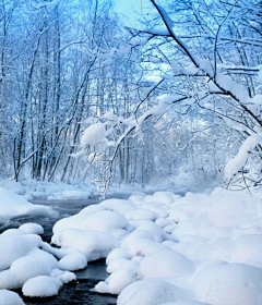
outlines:
{"label": "large smooth snow mound filling the bottom right corner", "polygon": [[211,265],[192,279],[201,302],[214,305],[260,305],[262,270],[243,264]]}

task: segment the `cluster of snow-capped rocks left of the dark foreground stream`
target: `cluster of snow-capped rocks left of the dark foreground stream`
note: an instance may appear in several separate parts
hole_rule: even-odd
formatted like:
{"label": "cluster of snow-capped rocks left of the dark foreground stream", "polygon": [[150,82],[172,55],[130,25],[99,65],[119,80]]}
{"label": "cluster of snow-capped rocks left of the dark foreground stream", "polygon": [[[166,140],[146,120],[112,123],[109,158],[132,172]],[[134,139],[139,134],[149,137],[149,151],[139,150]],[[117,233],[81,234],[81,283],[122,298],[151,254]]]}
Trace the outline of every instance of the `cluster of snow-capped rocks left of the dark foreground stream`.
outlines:
{"label": "cluster of snow-capped rocks left of the dark foreground stream", "polygon": [[[24,295],[28,296],[55,295],[63,283],[76,279],[68,270],[86,266],[83,254],[74,249],[70,253],[52,248],[37,235],[41,233],[44,230],[39,224],[25,223],[0,235],[0,301],[2,294],[3,300],[8,300],[7,304],[23,304],[5,291],[13,289],[22,289]],[[61,259],[58,261],[53,255]]]}

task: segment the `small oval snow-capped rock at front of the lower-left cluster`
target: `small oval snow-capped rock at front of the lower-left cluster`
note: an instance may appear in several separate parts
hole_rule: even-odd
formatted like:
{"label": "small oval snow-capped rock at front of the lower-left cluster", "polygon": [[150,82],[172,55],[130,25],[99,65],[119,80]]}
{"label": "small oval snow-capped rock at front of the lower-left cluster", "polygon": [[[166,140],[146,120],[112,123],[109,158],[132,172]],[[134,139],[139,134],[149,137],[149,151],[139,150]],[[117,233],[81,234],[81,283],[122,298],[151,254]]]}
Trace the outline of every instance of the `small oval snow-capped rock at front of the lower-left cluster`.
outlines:
{"label": "small oval snow-capped rock at front of the lower-left cluster", "polygon": [[22,292],[31,297],[48,297],[57,295],[62,288],[59,279],[49,276],[38,276],[29,279],[22,288]]}

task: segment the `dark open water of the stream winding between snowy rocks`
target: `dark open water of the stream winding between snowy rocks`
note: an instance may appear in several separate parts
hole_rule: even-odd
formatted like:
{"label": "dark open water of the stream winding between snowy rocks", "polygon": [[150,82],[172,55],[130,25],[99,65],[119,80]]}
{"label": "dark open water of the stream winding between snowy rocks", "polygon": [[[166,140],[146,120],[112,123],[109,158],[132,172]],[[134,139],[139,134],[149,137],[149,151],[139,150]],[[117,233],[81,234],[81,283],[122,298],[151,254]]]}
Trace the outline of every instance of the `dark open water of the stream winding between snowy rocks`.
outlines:
{"label": "dark open water of the stream winding between snowy rocks", "polygon": [[[120,196],[118,196],[120,197]],[[81,209],[88,205],[94,205],[99,203],[98,196],[91,197],[88,200],[46,200],[39,198],[32,200],[33,204],[51,206],[53,209],[58,210],[60,218],[64,218],[79,212]],[[53,219],[45,216],[23,216],[12,219],[9,223],[0,224],[0,233],[11,228],[19,228],[21,224],[26,222],[39,223],[44,229],[45,233],[41,235],[45,242],[50,243],[52,236],[52,227],[58,219]],[[24,297],[21,291],[16,291],[23,297],[25,304],[43,304],[43,305],[112,305],[116,304],[117,297],[112,295],[102,295],[93,292],[95,284],[99,281],[105,280],[108,277],[106,272],[105,259],[99,259],[96,261],[88,263],[87,268],[82,271],[74,272],[78,282],[66,284],[60,291],[59,295],[49,298],[32,298]]]}

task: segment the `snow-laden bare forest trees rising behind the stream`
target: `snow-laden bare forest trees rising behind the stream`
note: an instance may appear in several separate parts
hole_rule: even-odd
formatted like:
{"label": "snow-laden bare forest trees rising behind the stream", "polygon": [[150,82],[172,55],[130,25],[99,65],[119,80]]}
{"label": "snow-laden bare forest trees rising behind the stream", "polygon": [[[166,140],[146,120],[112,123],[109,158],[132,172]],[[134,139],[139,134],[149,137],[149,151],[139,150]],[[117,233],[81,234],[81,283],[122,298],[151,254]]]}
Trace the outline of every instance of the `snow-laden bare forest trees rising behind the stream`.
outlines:
{"label": "snow-laden bare forest trees rising behind the stream", "polygon": [[261,3],[144,2],[2,1],[3,179],[260,184]]}

